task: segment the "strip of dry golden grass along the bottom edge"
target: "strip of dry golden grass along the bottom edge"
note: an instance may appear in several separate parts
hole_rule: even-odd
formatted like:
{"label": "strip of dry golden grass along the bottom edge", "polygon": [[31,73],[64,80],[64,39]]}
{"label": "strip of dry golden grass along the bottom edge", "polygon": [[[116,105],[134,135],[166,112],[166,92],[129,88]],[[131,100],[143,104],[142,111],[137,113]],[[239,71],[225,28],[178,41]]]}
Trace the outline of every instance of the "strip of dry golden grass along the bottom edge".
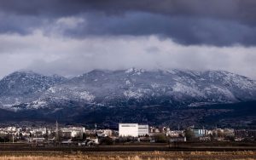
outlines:
{"label": "strip of dry golden grass along the bottom edge", "polygon": [[256,160],[256,151],[112,151],[73,153],[15,153],[1,155],[0,160]]}

